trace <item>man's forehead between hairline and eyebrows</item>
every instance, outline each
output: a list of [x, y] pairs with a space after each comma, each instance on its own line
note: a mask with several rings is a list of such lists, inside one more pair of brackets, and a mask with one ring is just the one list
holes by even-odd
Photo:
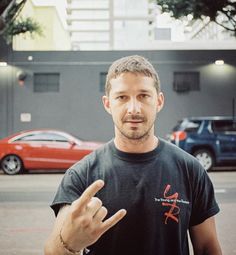
[[140, 73], [122, 73], [121, 75], [110, 80], [110, 92], [116, 93], [129, 90], [156, 90], [155, 81], [152, 77]]

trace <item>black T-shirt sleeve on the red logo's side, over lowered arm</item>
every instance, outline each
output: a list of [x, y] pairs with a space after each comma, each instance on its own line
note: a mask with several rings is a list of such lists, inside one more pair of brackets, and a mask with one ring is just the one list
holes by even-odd
[[194, 186], [190, 226], [198, 225], [220, 211], [213, 184], [205, 170], [202, 171], [200, 179]]

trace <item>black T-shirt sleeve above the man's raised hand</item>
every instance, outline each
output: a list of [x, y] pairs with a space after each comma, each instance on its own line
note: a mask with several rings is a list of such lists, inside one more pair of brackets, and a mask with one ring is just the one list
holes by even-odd
[[62, 205], [71, 204], [86, 189], [86, 169], [80, 163], [76, 164], [75, 167], [76, 169], [72, 167], [66, 171], [57, 189], [54, 200], [50, 205], [55, 215], [58, 214]]

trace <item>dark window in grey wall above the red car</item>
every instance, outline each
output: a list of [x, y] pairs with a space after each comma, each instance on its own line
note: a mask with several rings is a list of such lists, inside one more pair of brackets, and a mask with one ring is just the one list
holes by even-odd
[[35, 73], [34, 92], [59, 92], [59, 73]]

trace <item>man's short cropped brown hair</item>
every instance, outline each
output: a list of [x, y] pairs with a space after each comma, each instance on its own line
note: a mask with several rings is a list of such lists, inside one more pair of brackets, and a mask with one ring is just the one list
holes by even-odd
[[118, 77], [122, 73], [131, 72], [131, 73], [140, 73], [147, 77], [151, 77], [154, 80], [154, 86], [157, 90], [157, 93], [160, 92], [160, 80], [159, 76], [153, 67], [153, 65], [144, 57], [138, 55], [132, 55], [120, 58], [112, 63], [108, 70], [105, 84], [105, 93], [109, 95], [111, 84], [110, 80]]

